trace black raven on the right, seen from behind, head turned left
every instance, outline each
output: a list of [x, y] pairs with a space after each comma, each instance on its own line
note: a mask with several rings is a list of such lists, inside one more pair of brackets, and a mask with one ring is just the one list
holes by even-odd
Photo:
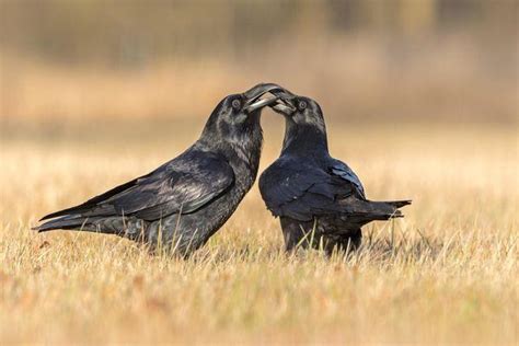
[[[360, 228], [373, 220], [402, 217], [411, 200], [371, 201], [351, 169], [328, 153], [324, 117], [319, 104], [288, 91], [274, 111], [286, 119], [281, 155], [260, 177], [267, 208], [280, 218], [287, 251], [298, 245], [331, 253], [356, 249]], [[349, 246], [349, 247], [348, 247]]]

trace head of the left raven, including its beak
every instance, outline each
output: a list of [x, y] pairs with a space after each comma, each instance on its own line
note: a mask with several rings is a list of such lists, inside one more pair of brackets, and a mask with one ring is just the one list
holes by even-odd
[[204, 135], [224, 141], [246, 140], [253, 130], [261, 130], [260, 116], [265, 106], [272, 105], [277, 96], [262, 97], [268, 92], [281, 90], [277, 84], [262, 83], [241, 94], [224, 97], [212, 111]]

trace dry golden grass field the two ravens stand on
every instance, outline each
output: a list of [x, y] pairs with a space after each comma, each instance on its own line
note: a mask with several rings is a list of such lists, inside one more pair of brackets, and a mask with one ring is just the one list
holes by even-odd
[[[282, 132], [269, 112], [264, 120], [262, 168]], [[347, 258], [284, 254], [257, 186], [187, 261], [116, 237], [30, 230], [176, 155], [201, 123], [183, 126], [157, 136], [128, 125], [109, 137], [4, 131], [1, 344], [518, 342], [515, 127], [328, 122], [333, 154], [370, 198], [414, 200], [405, 219], [366, 227]]]

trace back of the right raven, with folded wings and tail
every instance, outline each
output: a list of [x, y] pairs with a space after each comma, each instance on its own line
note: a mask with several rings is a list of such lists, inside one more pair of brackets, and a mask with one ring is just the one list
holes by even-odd
[[367, 200], [354, 171], [330, 155], [281, 155], [260, 177], [260, 191], [275, 217], [301, 222], [325, 218], [348, 228], [397, 217], [397, 208], [408, 204]]

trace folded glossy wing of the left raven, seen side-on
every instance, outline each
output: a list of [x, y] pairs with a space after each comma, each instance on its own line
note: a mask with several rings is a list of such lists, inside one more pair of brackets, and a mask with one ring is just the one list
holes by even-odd
[[135, 215], [145, 220], [158, 220], [171, 214], [197, 210], [227, 191], [233, 182], [234, 172], [224, 159], [208, 152], [188, 151], [148, 175], [42, 220], [74, 215]]

